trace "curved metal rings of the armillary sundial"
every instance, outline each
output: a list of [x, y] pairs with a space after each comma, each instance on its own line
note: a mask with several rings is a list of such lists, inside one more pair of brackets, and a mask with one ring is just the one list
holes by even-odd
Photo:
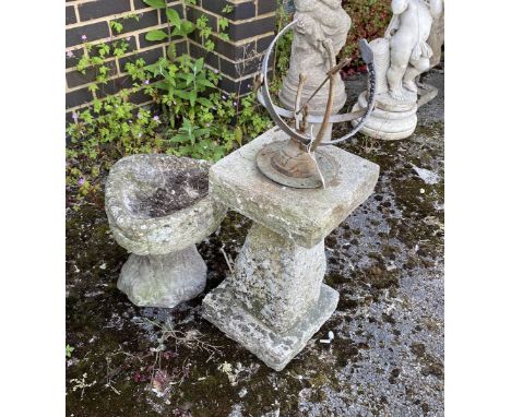
[[[304, 145], [309, 145], [312, 141], [313, 138], [309, 134], [302, 134], [297, 132], [296, 130], [292, 129], [287, 123], [281, 118], [280, 115], [283, 115], [284, 117], [294, 117], [294, 112], [283, 109], [282, 107], [277, 107], [273, 104], [272, 97], [270, 94], [270, 85], [266, 82], [268, 80], [268, 68], [269, 68], [269, 62], [270, 62], [270, 57], [272, 55], [273, 49], [275, 48], [276, 43], [278, 39], [286, 34], [298, 21], [295, 20], [290, 22], [288, 25], [286, 25], [272, 40], [270, 44], [266, 53], [264, 55], [264, 59], [262, 62], [261, 67], [261, 90], [258, 92], [258, 99], [259, 102], [266, 108], [268, 112], [272, 117], [273, 121], [289, 136], [296, 139]], [[329, 143], [320, 143], [319, 146], [325, 146], [325, 145], [331, 145], [335, 143], [340, 143], [343, 141], [346, 141], [347, 139], [354, 136], [366, 124], [366, 121], [369, 117], [369, 115], [372, 112], [372, 109], [375, 107], [375, 102], [376, 102], [376, 71], [375, 71], [375, 64], [373, 64], [373, 53], [372, 49], [370, 48], [369, 44], [367, 43], [366, 39], [361, 39], [358, 43], [358, 47], [360, 49], [360, 53], [363, 57], [364, 62], [367, 65], [368, 70], [368, 78], [369, 78], [369, 96], [368, 96], [368, 106], [365, 109], [364, 114], [361, 114], [360, 110], [354, 112], [354, 114], [345, 114], [345, 115], [333, 115], [331, 117], [332, 122], [341, 122], [341, 121], [348, 121], [348, 120], [354, 120], [354, 119], [359, 119], [359, 122], [353, 128], [352, 131], [346, 133], [344, 136], [332, 140]], [[352, 116], [353, 115], [353, 116]], [[323, 117], [324, 118], [324, 117]], [[321, 122], [323, 120], [319, 120]]]

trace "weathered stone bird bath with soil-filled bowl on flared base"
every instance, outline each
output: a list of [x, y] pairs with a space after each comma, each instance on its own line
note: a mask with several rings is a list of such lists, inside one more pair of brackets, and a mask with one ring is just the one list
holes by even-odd
[[209, 168], [204, 160], [158, 154], [129, 156], [111, 168], [108, 222], [131, 252], [117, 286], [136, 306], [171, 308], [204, 289], [206, 265], [195, 243], [226, 213], [209, 195]]

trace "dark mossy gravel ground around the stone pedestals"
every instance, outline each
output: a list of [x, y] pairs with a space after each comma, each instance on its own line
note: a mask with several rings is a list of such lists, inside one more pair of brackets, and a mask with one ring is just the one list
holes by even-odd
[[[443, 73], [408, 140], [342, 147], [381, 166], [376, 192], [325, 240], [334, 315], [282, 372], [201, 319], [201, 300], [136, 308], [116, 288], [128, 253], [103, 207], [67, 219], [68, 416], [443, 416]], [[346, 81], [353, 104], [365, 85]], [[335, 134], [335, 133], [334, 133]], [[250, 222], [199, 246], [206, 293]], [[330, 344], [320, 343], [334, 333]]]

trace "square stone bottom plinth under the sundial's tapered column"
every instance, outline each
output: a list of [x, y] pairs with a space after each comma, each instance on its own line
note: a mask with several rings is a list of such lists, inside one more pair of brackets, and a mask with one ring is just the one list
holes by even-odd
[[202, 302], [202, 315], [228, 337], [254, 354], [276, 371], [300, 353], [312, 335], [335, 311], [338, 293], [322, 284], [318, 301], [302, 320], [284, 333], [276, 333], [251, 314], [234, 296], [235, 279], [226, 279]]

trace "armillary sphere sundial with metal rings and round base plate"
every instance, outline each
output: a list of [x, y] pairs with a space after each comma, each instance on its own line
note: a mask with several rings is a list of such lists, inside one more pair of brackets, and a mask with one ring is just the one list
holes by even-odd
[[[301, 91], [305, 83], [307, 83], [307, 74], [300, 74], [294, 111], [275, 106], [270, 95], [268, 82], [270, 57], [278, 39], [296, 23], [298, 23], [298, 20], [289, 23], [275, 36], [264, 56], [261, 74], [259, 75], [259, 80], [257, 80], [259, 102], [266, 108], [276, 126], [284, 131], [289, 139], [285, 142], [273, 142], [264, 146], [257, 156], [257, 165], [264, 176], [283, 186], [301, 189], [325, 188], [336, 178], [337, 166], [328, 153], [318, 147], [343, 142], [355, 135], [366, 123], [375, 106], [376, 71], [373, 67], [373, 56], [367, 40], [361, 39], [358, 47], [368, 69], [369, 81], [367, 108], [344, 115], [331, 114], [336, 82], [335, 74], [346, 62], [332, 65], [330, 71], [325, 74], [324, 81], [305, 104], [301, 104]], [[325, 53], [329, 53], [331, 48], [324, 45], [324, 50]], [[329, 58], [330, 61], [335, 62], [335, 57]], [[330, 85], [324, 115], [322, 117], [309, 117], [307, 105], [326, 82], [329, 82]], [[289, 127], [283, 120], [283, 117], [286, 119], [294, 119], [295, 127]], [[328, 143], [322, 142], [329, 123], [347, 122], [356, 119], [358, 119], [359, 122], [344, 136], [334, 139]], [[316, 136], [312, 134], [312, 129], [308, 129], [309, 122], [321, 123], [320, 130]]]

